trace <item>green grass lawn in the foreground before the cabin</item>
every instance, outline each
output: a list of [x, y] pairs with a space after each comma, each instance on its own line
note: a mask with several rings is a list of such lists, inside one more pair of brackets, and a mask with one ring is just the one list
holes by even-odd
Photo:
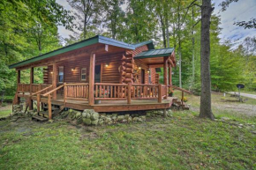
[[[213, 95], [216, 117], [256, 126], [255, 115], [232, 115], [221, 98]], [[199, 97], [188, 100], [191, 111], [139, 123], [0, 121], [0, 169], [256, 169], [256, 129], [200, 119]]]

